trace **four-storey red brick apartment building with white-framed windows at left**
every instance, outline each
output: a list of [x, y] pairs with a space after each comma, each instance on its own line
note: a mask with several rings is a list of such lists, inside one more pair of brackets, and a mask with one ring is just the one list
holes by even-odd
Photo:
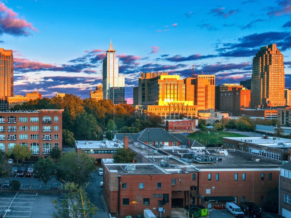
[[63, 111], [0, 111], [0, 149], [7, 153], [16, 144], [28, 146], [32, 161], [48, 157], [54, 147], [62, 150]]

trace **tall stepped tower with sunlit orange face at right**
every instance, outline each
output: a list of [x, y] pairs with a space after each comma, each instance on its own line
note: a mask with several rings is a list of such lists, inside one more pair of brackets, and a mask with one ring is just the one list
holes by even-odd
[[253, 58], [251, 106], [284, 106], [283, 54], [276, 44], [263, 46]]

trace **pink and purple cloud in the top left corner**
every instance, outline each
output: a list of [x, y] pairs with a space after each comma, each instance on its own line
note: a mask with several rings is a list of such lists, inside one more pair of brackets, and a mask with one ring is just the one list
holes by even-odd
[[18, 18], [18, 13], [0, 3], [0, 34], [6, 33], [13, 36], [31, 35], [29, 30], [37, 32], [32, 23], [23, 18]]

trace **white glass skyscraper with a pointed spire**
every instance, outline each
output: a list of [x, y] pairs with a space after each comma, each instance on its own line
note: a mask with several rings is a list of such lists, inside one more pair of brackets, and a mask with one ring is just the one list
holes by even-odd
[[110, 99], [114, 104], [126, 104], [125, 78], [119, 75], [119, 60], [110, 41], [106, 58], [103, 60], [103, 99]]

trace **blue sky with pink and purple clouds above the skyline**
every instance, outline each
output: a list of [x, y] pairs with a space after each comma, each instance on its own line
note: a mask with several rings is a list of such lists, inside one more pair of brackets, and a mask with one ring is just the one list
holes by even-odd
[[89, 97], [102, 84], [110, 39], [125, 75], [125, 98], [141, 72], [181, 78], [215, 74], [216, 84], [251, 78], [260, 47], [276, 43], [291, 88], [291, 0], [0, 2], [0, 47], [12, 49], [14, 94]]

